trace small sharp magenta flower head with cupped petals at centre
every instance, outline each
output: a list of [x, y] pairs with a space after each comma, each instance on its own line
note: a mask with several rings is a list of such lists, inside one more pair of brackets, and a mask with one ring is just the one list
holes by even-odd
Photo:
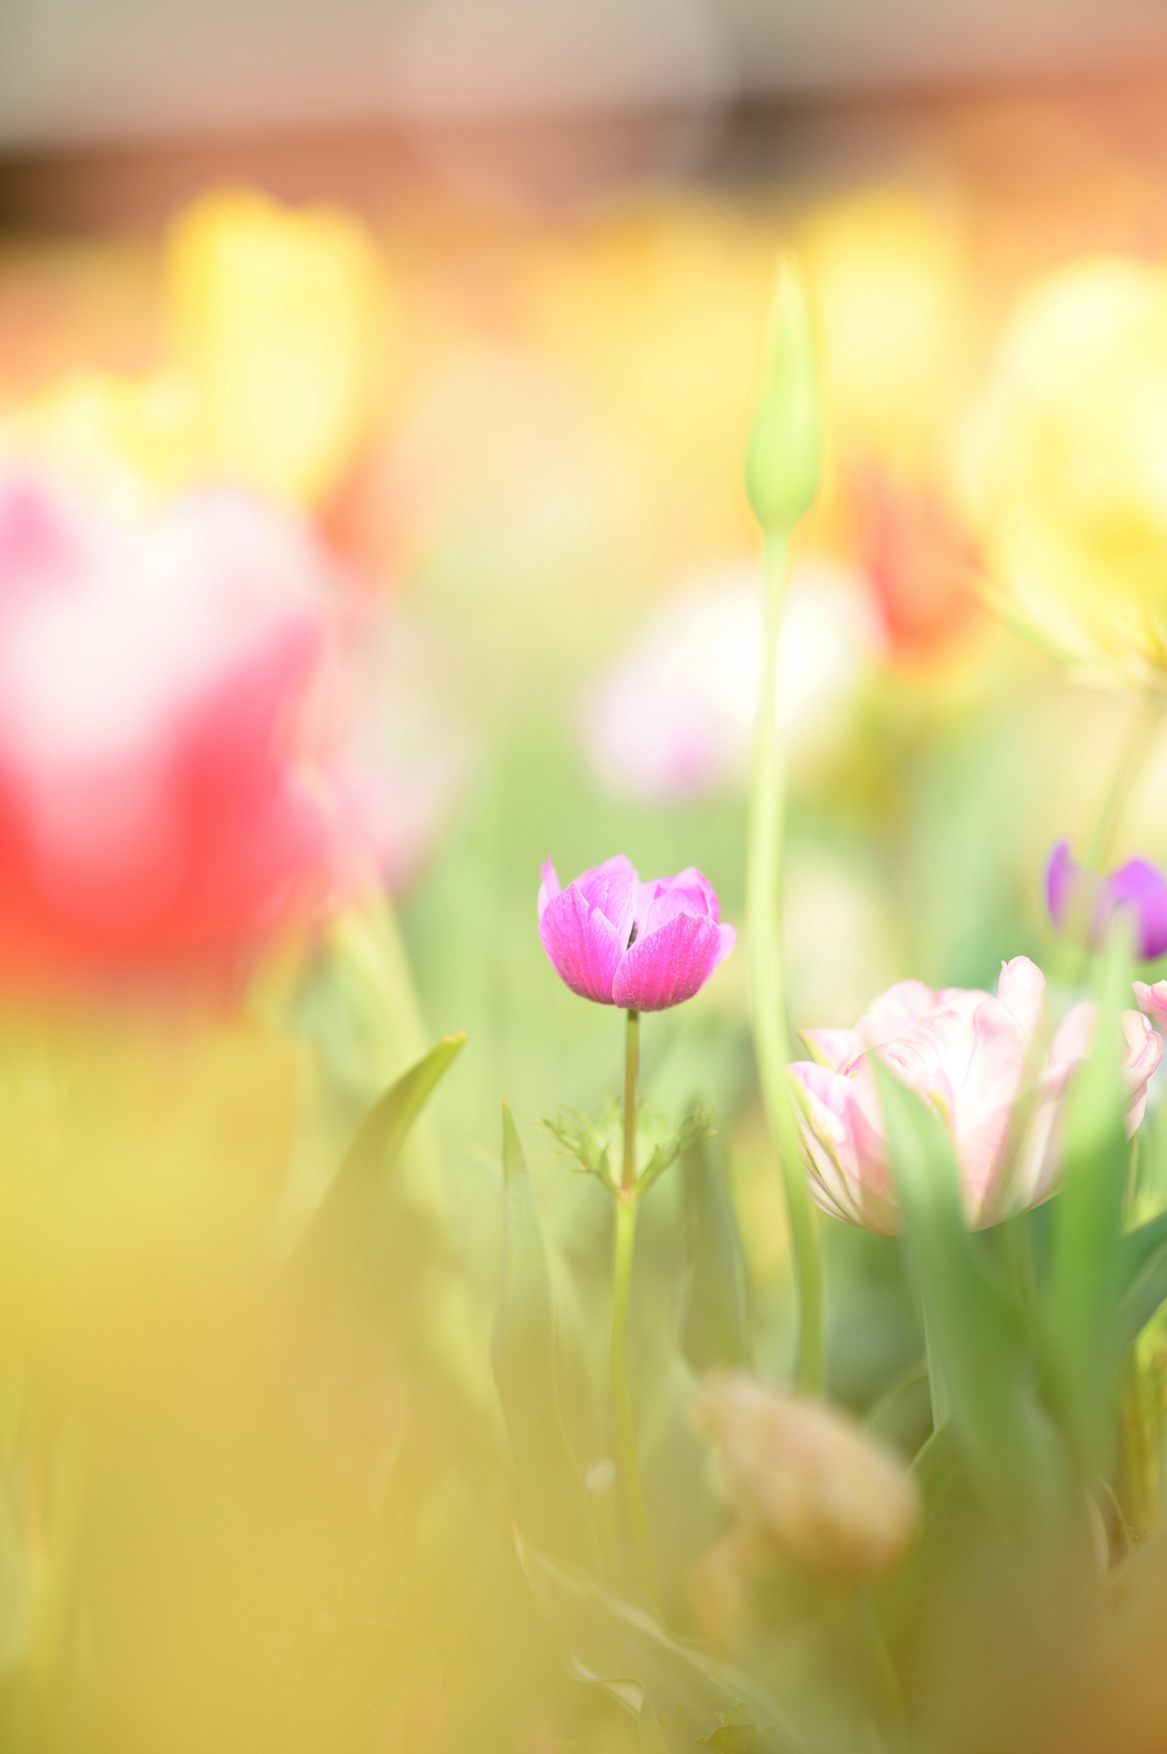
[[718, 919], [712, 884], [691, 865], [641, 882], [623, 852], [560, 888], [542, 866], [539, 937], [581, 998], [625, 1010], [669, 1010], [693, 998], [737, 933]]

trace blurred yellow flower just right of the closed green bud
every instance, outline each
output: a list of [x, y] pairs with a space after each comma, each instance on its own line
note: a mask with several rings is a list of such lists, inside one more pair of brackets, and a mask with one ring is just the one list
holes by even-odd
[[837, 451], [928, 474], [972, 333], [960, 226], [902, 186], [876, 186], [818, 207], [800, 258], [827, 337]]

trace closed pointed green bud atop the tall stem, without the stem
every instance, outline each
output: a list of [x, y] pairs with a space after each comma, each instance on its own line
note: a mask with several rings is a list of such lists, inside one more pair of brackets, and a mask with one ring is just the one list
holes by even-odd
[[823, 396], [811, 295], [793, 256], [777, 263], [762, 400], [746, 446], [746, 498], [767, 535], [790, 535], [823, 472]]

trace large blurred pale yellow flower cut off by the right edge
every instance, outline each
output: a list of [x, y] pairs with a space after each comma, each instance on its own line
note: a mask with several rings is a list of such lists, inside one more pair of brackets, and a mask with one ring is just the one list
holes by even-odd
[[1167, 270], [1093, 260], [1023, 298], [962, 488], [1006, 619], [1088, 681], [1167, 689]]

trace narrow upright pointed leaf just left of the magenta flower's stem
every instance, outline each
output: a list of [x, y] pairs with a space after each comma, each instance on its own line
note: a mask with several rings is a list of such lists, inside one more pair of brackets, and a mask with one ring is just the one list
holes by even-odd
[[511, 1438], [523, 1524], [549, 1552], [595, 1566], [598, 1549], [588, 1498], [560, 1415], [548, 1251], [523, 1145], [505, 1103], [502, 1168], [505, 1244], [491, 1363]]

